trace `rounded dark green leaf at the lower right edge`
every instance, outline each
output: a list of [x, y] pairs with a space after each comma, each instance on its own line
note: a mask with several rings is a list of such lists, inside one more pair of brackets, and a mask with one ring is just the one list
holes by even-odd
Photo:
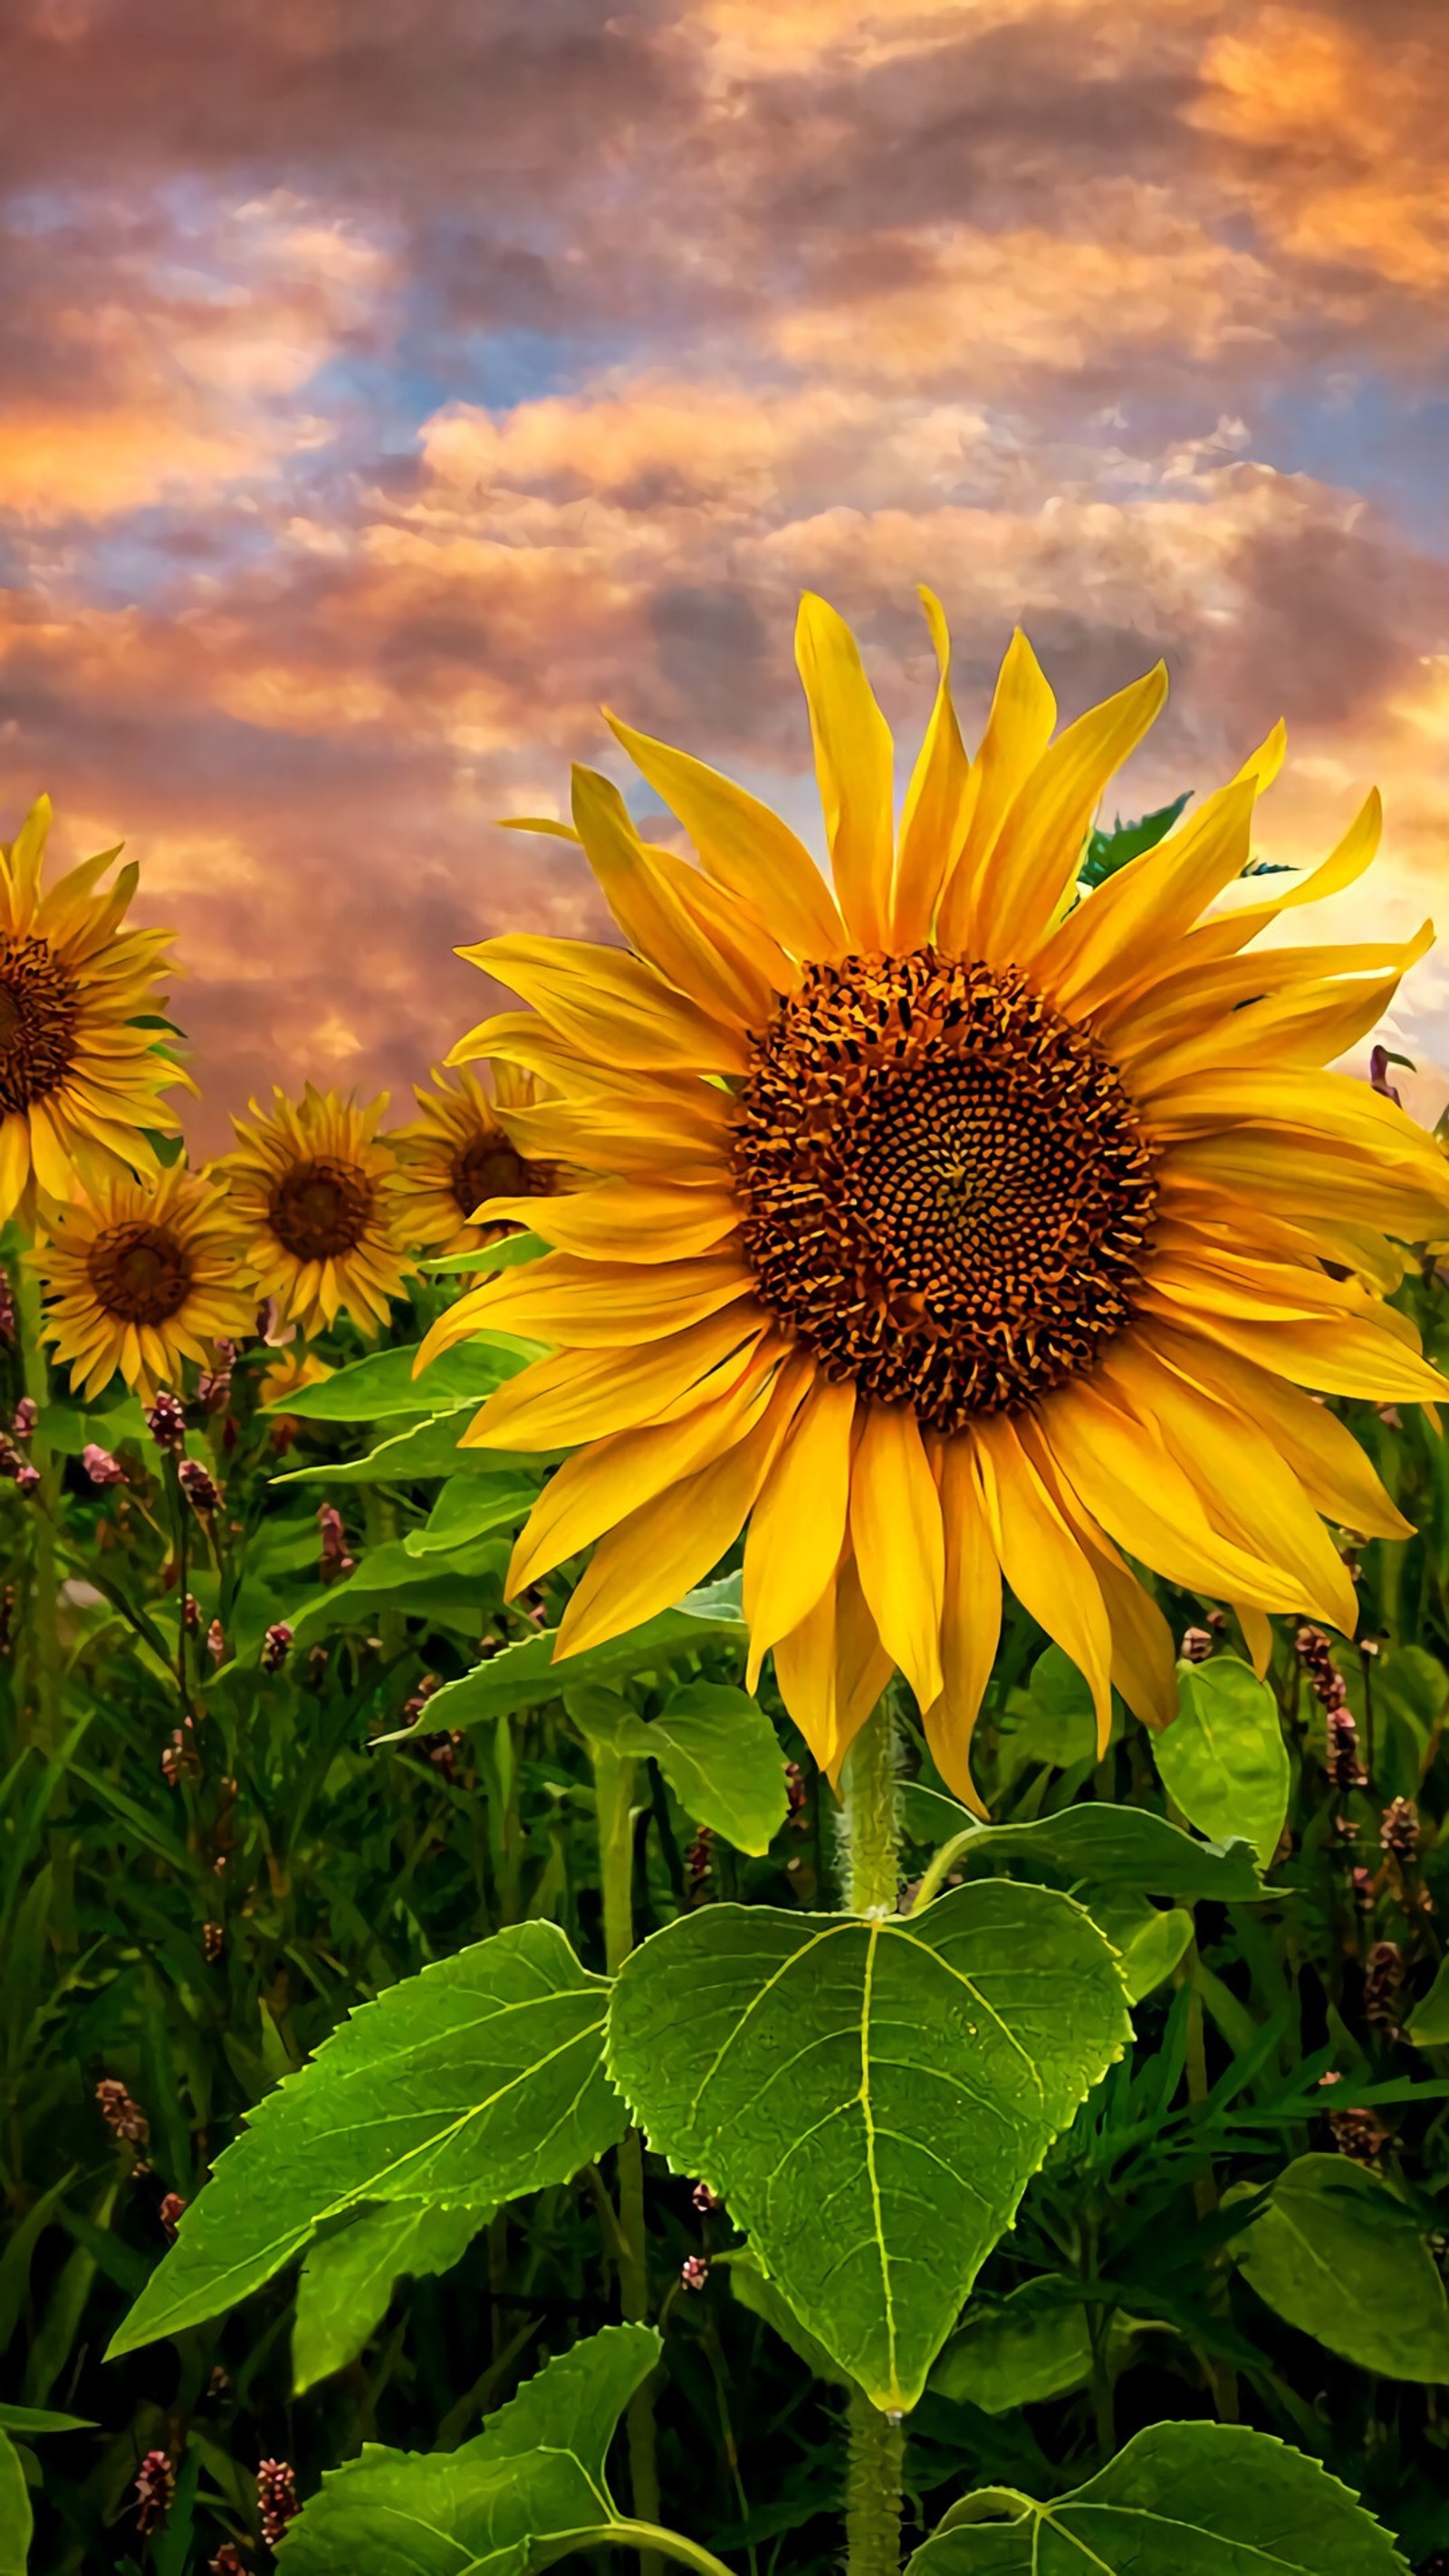
[[1449, 2300], [1423, 2223], [1346, 2156], [1300, 2156], [1233, 2244], [1289, 2326], [1385, 2380], [1449, 2380]]

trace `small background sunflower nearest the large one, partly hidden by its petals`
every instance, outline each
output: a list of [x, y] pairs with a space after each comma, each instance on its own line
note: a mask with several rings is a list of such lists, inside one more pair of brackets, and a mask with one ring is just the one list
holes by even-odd
[[507, 1231], [502, 1224], [474, 1224], [484, 1198], [551, 1198], [558, 1188], [558, 1164], [525, 1154], [510, 1133], [517, 1118], [520, 1136], [528, 1136], [538, 1082], [499, 1064], [492, 1097], [468, 1072], [453, 1087], [435, 1066], [432, 1084], [425, 1092], [414, 1082], [422, 1118], [394, 1133], [399, 1234], [425, 1252], [481, 1252]]

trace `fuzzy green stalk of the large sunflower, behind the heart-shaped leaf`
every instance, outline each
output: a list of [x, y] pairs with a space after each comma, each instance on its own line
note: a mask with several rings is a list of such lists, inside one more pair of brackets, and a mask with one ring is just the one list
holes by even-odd
[[[844, 1911], [896, 1914], [901, 1893], [901, 1814], [896, 1726], [875, 1710], [849, 1747], [844, 1767]], [[844, 2473], [847, 2576], [901, 2576], [901, 2416], [880, 2414], [862, 2388], [849, 2393]]]

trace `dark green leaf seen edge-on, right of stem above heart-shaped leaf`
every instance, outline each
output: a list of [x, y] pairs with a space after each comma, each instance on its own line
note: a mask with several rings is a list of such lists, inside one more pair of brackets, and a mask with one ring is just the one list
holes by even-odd
[[[906, 1824], [916, 1816], [921, 1790], [906, 1788]], [[927, 1790], [934, 1806], [947, 1806]], [[957, 1808], [957, 1824], [932, 1834], [947, 1839], [975, 1824]], [[914, 1826], [911, 1826], [914, 1829]], [[1040, 1816], [1035, 1824], [981, 1824], [952, 1862], [965, 1878], [988, 1870], [1011, 1870], [1019, 1878], [1060, 1880], [1076, 1886], [1145, 1888], [1153, 1896], [1215, 1896], [1223, 1904], [1266, 1896], [1253, 1852], [1246, 1842], [1194, 1842], [1179, 1824], [1153, 1816], [1140, 1806], [1109, 1806], [1094, 1798], [1089, 1806], [1063, 1806], [1058, 1816]]]

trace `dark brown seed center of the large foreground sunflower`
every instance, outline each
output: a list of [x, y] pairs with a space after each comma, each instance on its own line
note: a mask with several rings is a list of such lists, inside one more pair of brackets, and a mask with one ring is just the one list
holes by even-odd
[[955, 1432], [1130, 1321], [1153, 1157], [1112, 1066], [1014, 969], [811, 966], [739, 1108], [759, 1301], [826, 1376]]

